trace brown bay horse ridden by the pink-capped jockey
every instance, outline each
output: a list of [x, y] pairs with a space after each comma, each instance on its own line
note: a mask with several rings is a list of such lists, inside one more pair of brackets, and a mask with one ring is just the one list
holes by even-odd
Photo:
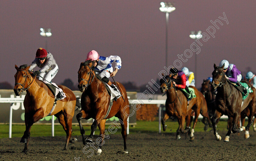
[[[96, 143], [99, 145], [97, 153], [100, 154], [102, 152], [102, 145], [105, 142], [104, 136], [106, 119], [115, 116], [118, 117], [119, 121], [121, 122], [124, 152], [128, 153], [126, 148], [126, 128], [130, 109], [124, 86], [121, 83], [116, 82], [124, 99], [120, 97], [114, 101], [111, 110], [107, 115], [110, 103], [110, 95], [108, 94], [104, 83], [97, 76], [95, 76], [94, 66], [92, 66], [91, 60], [82, 62], [80, 64], [78, 71], [78, 83], [78, 88], [81, 92], [83, 92], [83, 94], [81, 96], [82, 109], [80, 113], [76, 115], [76, 118], [80, 126], [81, 135], [83, 137], [83, 144], [86, 145], [88, 142], [90, 143], [93, 141], [93, 133], [98, 126], [100, 129], [101, 142], [97, 143], [96, 140]], [[82, 118], [87, 120], [90, 118], [94, 119], [94, 122], [91, 125], [91, 134], [88, 138], [86, 138], [84, 135], [85, 131], [81, 122]], [[110, 131], [110, 133], [112, 132]]]

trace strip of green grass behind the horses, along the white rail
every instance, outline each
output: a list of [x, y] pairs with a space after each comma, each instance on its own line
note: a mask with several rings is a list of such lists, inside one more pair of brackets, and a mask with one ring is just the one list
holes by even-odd
[[[130, 125], [130, 127], [129, 127], [130, 134], [149, 133], [149, 132], [158, 133], [158, 121], [137, 121], [136, 123], [137, 124], [133, 127]], [[178, 128], [178, 122], [168, 120], [165, 122], [165, 124], [167, 125], [167, 129], [166, 129], [166, 131], [163, 131], [162, 126], [161, 126], [162, 133], [176, 132], [176, 130]], [[191, 126], [193, 126], [193, 123]], [[85, 130], [85, 135], [90, 135], [91, 126], [84, 125], [83, 127]], [[108, 127], [109, 127], [109, 125], [106, 125], [105, 129], [107, 129]], [[219, 131], [227, 131], [226, 127], [227, 127], [227, 121], [219, 121], [219, 123], [217, 125], [217, 129]], [[118, 130], [116, 131], [115, 134], [120, 134], [121, 127], [118, 128], [116, 126], [116, 128]], [[72, 129], [73, 129], [73, 133], [72, 133], [73, 136], [81, 135], [78, 125], [73, 125]], [[212, 128], [208, 128], [208, 131], [210, 131], [210, 129], [212, 129]], [[55, 136], [65, 136], [66, 135], [66, 133], [63, 130], [61, 125], [55, 125], [54, 130], [55, 130], [55, 133], [54, 133]], [[25, 125], [12, 125], [12, 138], [14, 138], [14, 137], [21, 138], [23, 136], [24, 131], [25, 131]], [[195, 128], [195, 132], [199, 132], [199, 131], [204, 131], [204, 124], [201, 121], [197, 122], [197, 125]], [[52, 125], [34, 124], [31, 128], [30, 134], [31, 134], [30, 137], [52, 136]], [[95, 134], [99, 135], [98, 128], [95, 131]], [[9, 124], [0, 125], [0, 138], [8, 138], [8, 137], [9, 137]]]

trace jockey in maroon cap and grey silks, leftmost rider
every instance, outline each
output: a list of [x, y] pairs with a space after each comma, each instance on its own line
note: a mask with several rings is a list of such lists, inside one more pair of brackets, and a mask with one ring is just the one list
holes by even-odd
[[[58, 72], [59, 68], [56, 64], [55, 59], [53, 58], [51, 53], [47, 53], [47, 51], [43, 48], [37, 49], [36, 58], [30, 65], [29, 70], [31, 71], [36, 66], [41, 68], [33, 73], [33, 76], [40, 75], [41, 77], [37, 77], [39, 80], [45, 79], [48, 82], [51, 82], [52, 79], [55, 77], [56, 73]], [[64, 97], [64, 93], [62, 90], [59, 90], [57, 94], [57, 100], [61, 100]]]

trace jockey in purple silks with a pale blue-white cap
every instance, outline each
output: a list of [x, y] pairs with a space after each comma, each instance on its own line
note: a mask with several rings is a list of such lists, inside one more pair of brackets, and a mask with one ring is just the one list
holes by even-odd
[[[236, 65], [229, 64], [227, 60], [222, 60], [219, 63], [219, 66], [222, 67], [224, 65], [223, 71], [225, 72], [225, 77], [230, 82], [236, 83], [237, 86], [242, 86], [240, 81], [242, 79], [241, 72], [236, 68]], [[243, 87], [243, 86], [242, 86]], [[243, 92], [247, 95], [247, 89], [243, 87]]]

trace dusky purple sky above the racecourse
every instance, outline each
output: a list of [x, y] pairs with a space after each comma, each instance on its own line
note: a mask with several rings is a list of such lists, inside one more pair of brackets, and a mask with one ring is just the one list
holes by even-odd
[[[72, 79], [77, 84], [80, 62], [91, 50], [101, 56], [119, 55], [122, 68], [115, 76], [119, 82], [132, 81], [143, 85], [160, 78], [165, 66], [165, 13], [158, 0], [144, 1], [1, 1], [0, 82], [14, 86], [14, 65], [30, 65], [39, 47], [45, 48], [40, 28], [51, 28], [48, 52], [59, 66], [52, 80], [59, 84]], [[202, 43], [199, 54], [193, 52], [187, 62], [194, 71], [197, 56], [197, 87], [211, 76], [213, 64], [222, 59], [233, 63], [241, 72], [255, 70], [255, 1], [176, 1], [176, 10], [169, 14], [168, 66], [194, 42], [191, 30], [206, 32], [225, 12], [229, 24], [216, 29]], [[184, 57], [185, 58], [185, 57]], [[181, 68], [179, 68], [181, 69]]]

